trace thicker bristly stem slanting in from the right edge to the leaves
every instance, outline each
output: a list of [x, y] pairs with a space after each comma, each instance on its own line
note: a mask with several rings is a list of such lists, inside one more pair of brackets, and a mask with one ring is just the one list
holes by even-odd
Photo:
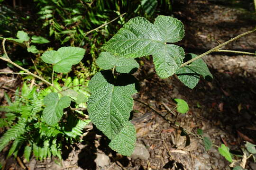
[[236, 37], [230, 39], [229, 41], [223, 42], [223, 43], [219, 44], [218, 46], [214, 47], [213, 49], [211, 49], [211, 50], [209, 50], [209, 51], [206, 51], [205, 53], [202, 53], [201, 55], [199, 55], [199, 56], [197, 56], [197, 57], [195, 57], [195, 58], [193, 58], [193, 59], [191, 59], [191, 60], [189, 60], [189, 61], [183, 63], [183, 64], [181, 65], [181, 67], [184, 67], [184, 66], [186, 66], [186, 65], [188, 65], [188, 64], [190, 64], [190, 63], [192, 63], [194, 60], [200, 59], [200, 58], [202, 58], [203, 56], [205, 56], [205, 55], [207, 55], [207, 54], [210, 54], [211, 52], [218, 51], [220, 47], [222, 47], [222, 46], [224, 46], [224, 45], [227, 45], [228, 43], [233, 42], [233, 41], [237, 40], [238, 38], [240, 38], [240, 37], [242, 37], [242, 36], [245, 36], [245, 35], [247, 35], [247, 34], [251, 34], [251, 33], [255, 32], [255, 31], [256, 31], [256, 29], [254, 29], [254, 30], [252, 30], [252, 31], [247, 31], [247, 32], [245, 32], [245, 33], [243, 33], [243, 34], [240, 34], [240, 35], [238, 35], [238, 36], [236, 36]]

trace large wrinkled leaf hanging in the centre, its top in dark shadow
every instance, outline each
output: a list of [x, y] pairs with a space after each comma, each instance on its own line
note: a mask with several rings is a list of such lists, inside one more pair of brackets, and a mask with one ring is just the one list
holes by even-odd
[[135, 84], [117, 86], [111, 72], [98, 72], [88, 85], [91, 96], [87, 102], [91, 122], [106, 136], [113, 139], [128, 121], [133, 108]]

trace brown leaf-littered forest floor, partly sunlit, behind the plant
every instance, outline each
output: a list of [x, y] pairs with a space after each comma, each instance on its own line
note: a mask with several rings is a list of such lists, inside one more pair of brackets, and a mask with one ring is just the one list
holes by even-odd
[[[186, 30], [183, 41], [177, 45], [186, 53], [201, 54], [256, 26], [251, 13], [222, 2], [180, 0], [174, 4], [172, 14], [183, 22]], [[223, 49], [255, 52], [256, 34], [242, 37]], [[139, 93], [133, 96], [137, 155], [124, 157], [114, 153], [108, 147], [108, 139], [89, 125], [84, 142], [67, 147], [62, 166], [50, 159], [33, 159], [27, 167], [30, 170], [230, 170], [229, 162], [218, 149], [213, 147], [206, 152], [199, 138], [190, 135], [190, 144], [185, 147], [186, 137], [180, 136], [181, 131], [169, 122], [195, 134], [201, 128], [214, 144], [227, 144], [231, 150], [239, 151], [245, 141], [256, 143], [256, 58], [212, 53], [203, 59], [214, 79], [211, 82], [201, 79], [192, 90], [175, 76], [160, 79], [155, 75], [141, 82]], [[152, 59], [140, 62], [144, 65], [135, 76], [154, 71]], [[187, 114], [178, 115], [172, 110], [175, 98], [188, 102]], [[256, 170], [256, 163], [248, 159], [246, 168]]]

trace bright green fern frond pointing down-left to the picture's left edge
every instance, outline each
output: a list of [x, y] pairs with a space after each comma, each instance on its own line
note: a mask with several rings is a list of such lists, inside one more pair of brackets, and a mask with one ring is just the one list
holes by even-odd
[[14, 140], [24, 134], [26, 132], [25, 127], [26, 123], [23, 120], [19, 120], [13, 127], [9, 128], [0, 138], [0, 151], [2, 151], [11, 140]]

